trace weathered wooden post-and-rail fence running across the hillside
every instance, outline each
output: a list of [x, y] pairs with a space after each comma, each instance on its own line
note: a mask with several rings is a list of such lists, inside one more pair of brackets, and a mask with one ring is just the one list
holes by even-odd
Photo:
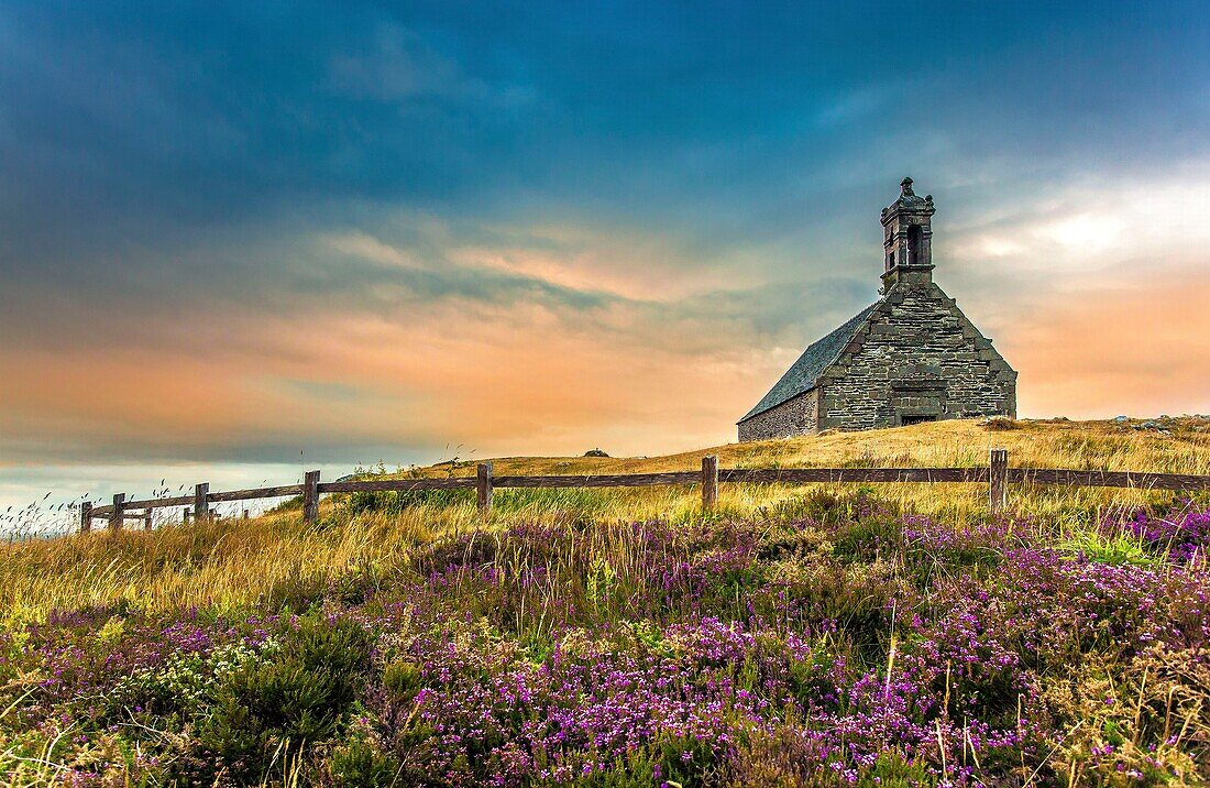
[[[719, 484], [817, 484], [817, 483], [967, 483], [986, 484], [992, 512], [1008, 505], [1009, 484], [1060, 484], [1065, 487], [1119, 487], [1147, 490], [1210, 490], [1210, 476], [1188, 473], [1147, 473], [1136, 471], [1071, 471], [1061, 468], [1010, 468], [1008, 451], [992, 449], [985, 467], [963, 468], [719, 468], [719, 458], [702, 458], [701, 471], [663, 473], [613, 473], [599, 476], [494, 476], [491, 464], [483, 462], [476, 476], [446, 478], [374, 479], [321, 482], [319, 471], [307, 471], [302, 484], [263, 487], [248, 490], [211, 493], [209, 484], [194, 488], [192, 495], [151, 497], [127, 501], [119, 493], [109, 506], [80, 507], [80, 530], [92, 529], [93, 519], [106, 519], [109, 528], [120, 529], [126, 519], [140, 519], [151, 528], [151, 511], [185, 507], [184, 519], [213, 518], [211, 504], [247, 501], [264, 497], [302, 496], [302, 517], [315, 522], [319, 516], [319, 496], [332, 493], [409, 491], [474, 489], [480, 512], [491, 508], [496, 488], [589, 488], [589, 487], [669, 487], [699, 484], [702, 506], [713, 508], [719, 500]], [[142, 511], [137, 511], [142, 510]], [[243, 510], [248, 517], [248, 510]]]

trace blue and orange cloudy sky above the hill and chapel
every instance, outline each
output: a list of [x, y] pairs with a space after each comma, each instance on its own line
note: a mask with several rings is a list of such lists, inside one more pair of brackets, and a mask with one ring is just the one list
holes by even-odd
[[[1022, 416], [1210, 412], [1205, 2], [0, 4], [0, 511], [734, 441], [878, 211]], [[143, 479], [143, 481], [140, 481]]]

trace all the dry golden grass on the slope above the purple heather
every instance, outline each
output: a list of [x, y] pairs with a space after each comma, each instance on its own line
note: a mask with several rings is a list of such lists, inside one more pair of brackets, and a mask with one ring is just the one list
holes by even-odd
[[[989, 431], [974, 421], [945, 421], [897, 430], [835, 433], [750, 444], [728, 444], [662, 458], [501, 458], [497, 474], [636, 473], [701, 467], [718, 454], [721, 467], [975, 466], [987, 450], [1009, 450], [1013, 466], [1104, 468], [1210, 474], [1205, 421], [1185, 420], [1172, 435], [1110, 422], [1019, 422]], [[474, 462], [421, 470], [424, 474], [473, 473]], [[817, 485], [818, 487], [818, 485]], [[837, 488], [840, 490], [842, 488]], [[852, 490], [852, 485], [843, 488]], [[802, 485], [724, 484], [720, 511], [762, 517], [789, 507]], [[979, 484], [885, 484], [874, 493], [891, 505], [961, 524], [986, 517]], [[1010, 488], [1010, 506], [1051, 533], [1078, 530], [1114, 508], [1170, 500], [1140, 490]], [[409, 551], [434, 536], [483, 525], [472, 502], [415, 507], [398, 516], [344, 512], [324, 501], [318, 527], [298, 510], [253, 520], [168, 527], [154, 533], [93, 533], [0, 547], [0, 623], [45, 619], [53, 609], [111, 605], [125, 600], [151, 610], [204, 605], [237, 610], [281, 604], [350, 575], [385, 577]], [[699, 516], [697, 488], [497, 490], [486, 525], [514, 522], [666, 518]]]

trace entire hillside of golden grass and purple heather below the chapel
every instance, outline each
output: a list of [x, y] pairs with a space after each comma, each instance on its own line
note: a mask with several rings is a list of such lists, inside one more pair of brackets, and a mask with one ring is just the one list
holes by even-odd
[[[1210, 473], [1208, 421], [973, 421], [497, 474]], [[404, 471], [471, 474], [474, 461]], [[333, 496], [2, 547], [0, 786], [1202, 784], [1210, 499], [976, 484]]]

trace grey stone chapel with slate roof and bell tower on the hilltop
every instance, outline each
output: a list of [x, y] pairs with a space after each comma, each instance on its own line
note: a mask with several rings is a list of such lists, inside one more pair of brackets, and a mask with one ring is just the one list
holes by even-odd
[[882, 299], [811, 345], [739, 420], [741, 441], [1016, 416], [1016, 372], [933, 282], [932, 196], [901, 186], [882, 212]]

